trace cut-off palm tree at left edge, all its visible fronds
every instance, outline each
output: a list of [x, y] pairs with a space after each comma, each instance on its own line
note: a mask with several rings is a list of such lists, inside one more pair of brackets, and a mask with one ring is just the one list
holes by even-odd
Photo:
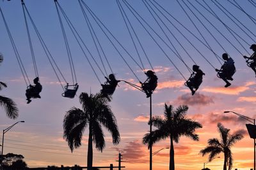
[[[0, 64], [1, 62], [3, 62], [3, 55], [0, 53]], [[3, 90], [3, 88], [5, 87], [7, 87], [6, 83], [0, 81], [0, 91]], [[19, 116], [19, 110], [12, 99], [0, 96], [0, 106], [4, 108], [7, 117], [15, 119]]]

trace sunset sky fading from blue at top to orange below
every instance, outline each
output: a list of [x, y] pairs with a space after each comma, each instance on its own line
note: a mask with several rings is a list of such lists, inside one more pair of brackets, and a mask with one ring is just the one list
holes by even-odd
[[[61, 73], [65, 75], [65, 79], [68, 82], [72, 83], [65, 41], [61, 32], [60, 21], [58, 20], [54, 1], [27, 0], [24, 2], [49, 52], [51, 52], [56, 64], [60, 67]], [[20, 120], [25, 121], [24, 123], [15, 125], [15, 127], [4, 135], [4, 153], [12, 152], [24, 155], [24, 160], [29, 167], [45, 167], [48, 165], [72, 166], [74, 164], [86, 166], [88, 129], [84, 131], [82, 146], [71, 153], [67, 142], [63, 139], [63, 118], [65, 113], [73, 106], [81, 108], [78, 99], [81, 92], [92, 94], [99, 92], [101, 89], [100, 83], [104, 83], [104, 76], [110, 74], [111, 69], [113, 73], [115, 73], [116, 79], [139, 85], [139, 81], [146, 80], [143, 69], [152, 69], [151, 64], [158, 77], [158, 86], [152, 95], [152, 115], [163, 115], [164, 103], [172, 104], [175, 108], [180, 104], [188, 104], [189, 110], [187, 116], [203, 125], [202, 129], [196, 130], [196, 134], [198, 134], [200, 138], [199, 141], [182, 137], [179, 143], [175, 143], [175, 168], [178, 170], [203, 168], [204, 162], [207, 162], [208, 155], [202, 157], [199, 152], [207, 146], [208, 139], [220, 138], [217, 131], [218, 122], [221, 122], [221, 124], [230, 129], [231, 133], [240, 132], [244, 136], [241, 141], [232, 146], [234, 168], [241, 170], [252, 168], [253, 139], [248, 135], [245, 126], [245, 124], [250, 122], [246, 122], [246, 120], [232, 113], [223, 113], [223, 111], [235, 111], [247, 117], [255, 118], [255, 74], [250, 67], [246, 66], [246, 62], [243, 58], [243, 55], [249, 56], [252, 54], [250, 45], [255, 43], [254, 40], [256, 38], [253, 34], [253, 30], [255, 30], [256, 27], [254, 19], [256, 16], [254, 13], [255, 6], [250, 3], [252, 1], [243, 1], [243, 3], [240, 1], [230, 2], [237, 2], [246, 13], [254, 18], [248, 17], [248, 15], [236, 8], [236, 6], [229, 1], [215, 1], [220, 3], [225, 8], [226, 12], [229, 12], [235, 17], [231, 18], [236, 23], [239, 23], [238, 25], [242, 27], [246, 33], [241, 31], [241, 29], [239, 29], [220, 8], [212, 3], [212, 1], [207, 1], [207, 5], [216, 13], [220, 20], [213, 17], [209, 11], [205, 10], [197, 3], [200, 2], [205, 6], [203, 0], [156, 1], [176, 19], [176, 21], [173, 20], [163, 9], [160, 11], [164, 13], [166, 18], [161, 15], [160, 11], [155, 10], [164, 23], [160, 22], [157, 18], [161, 25], [161, 27], [159, 27], [143, 1], [129, 0], [128, 2], [131, 4], [132, 8], [134, 8], [134, 10], [140, 14], [140, 17], [150, 26], [148, 27], [143, 20], [140, 20], [146, 29], [144, 29], [136, 17], [132, 15], [123, 1], [120, 2], [131, 22], [132, 28], [136, 32], [136, 36], [140, 39], [140, 43], [145, 53], [147, 53], [148, 59], [144, 55], [136, 36], [132, 33], [132, 37], [140, 53], [140, 62], [140, 58], [138, 57], [136, 48], [134, 48], [129, 31], [125, 26], [124, 18], [122, 18], [116, 1], [89, 0], [85, 3], [93, 13], [97, 15], [101, 22], [104, 23], [111, 34], [115, 36], [120, 45], [124, 46], [125, 50], [136, 61], [134, 62], [125, 50], [111, 38], [116, 49], [120, 52], [120, 55], [90, 16], [90, 13], [86, 11], [92, 23], [93, 30], [97, 38], [99, 38], [100, 45], [111, 66], [108, 67], [106, 60], [104, 60], [104, 66], [102, 66], [100, 62], [97, 48], [95, 48], [90, 29], [88, 29], [78, 1], [58, 1], [76, 28], [76, 31], [79, 33], [79, 36], [83, 39], [84, 44], [86, 44], [90, 53], [92, 53], [93, 59], [95, 59], [96, 63], [99, 65], [98, 67], [95, 64], [92, 57], [90, 57], [90, 53], [85, 50], [83, 46], [84, 53], [86, 53], [88, 60], [92, 64], [97, 74], [96, 76], [83, 50], [81, 50], [79, 43], [77, 43], [72, 31], [70, 31], [67, 22], [62, 18], [76, 69], [77, 83], [79, 84], [77, 96], [74, 97], [74, 99], [61, 96], [63, 89], [61, 88], [60, 82], [54, 74], [51, 64], [40, 45], [40, 41], [38, 41], [36, 37], [31, 23], [28, 22], [31, 41], [33, 42], [33, 49], [35, 51], [38, 74], [43, 90], [40, 93], [41, 99], [33, 99], [30, 104], [26, 104], [25, 91], [27, 85], [20, 71], [17, 59], [15, 58], [15, 53], [13, 52], [10, 39], [4, 27], [3, 18], [0, 19], [0, 52], [4, 55], [4, 62], [0, 66], [1, 81], [8, 85], [8, 88], [1, 90], [1, 95], [12, 98], [19, 108], [19, 118], [17, 118], [17, 120], [7, 118], [4, 110], [1, 109], [0, 129], [6, 129], [8, 126]], [[188, 13], [189, 17], [191, 17], [191, 20], [200, 32], [196, 30], [195, 25], [189, 20], [178, 2]], [[193, 8], [191, 4], [193, 4], [195, 8]], [[3, 10], [15, 45], [20, 53], [24, 68], [28, 73], [29, 81], [33, 82], [35, 73], [29, 50], [22, 5], [19, 1], [12, 0], [1, 1], [0, 7]], [[196, 19], [188, 7], [201, 22]], [[204, 17], [202, 17], [196, 9], [198, 9]], [[172, 22], [174, 26], [169, 21]], [[177, 21], [184, 25], [184, 27]], [[223, 24], [225, 24], [226, 27]], [[232, 31], [228, 31], [227, 27]], [[168, 38], [166, 38], [161, 28], [166, 32]], [[130, 28], [129, 30], [131, 31], [132, 29]], [[175, 37], [172, 36], [168, 30], [170, 30]], [[209, 30], [211, 34], [207, 30]], [[192, 32], [195, 36], [191, 35], [188, 31]], [[180, 32], [182, 34], [180, 34]], [[232, 36], [230, 32], [232, 32], [234, 36]], [[204, 36], [210, 47], [207, 47], [207, 43], [205, 43], [200, 33]], [[109, 35], [109, 37], [111, 36]], [[161, 39], [163, 39], [163, 41]], [[187, 41], [187, 39], [189, 41]], [[182, 59], [177, 57], [179, 56], [177, 53], [175, 55], [175, 53], [172, 52], [172, 50], [175, 51], [175, 49], [170, 42], [172, 42]], [[191, 44], [195, 46], [195, 48]], [[225, 82], [218, 78], [216, 71], [214, 71], [215, 68], [220, 69], [221, 64], [223, 64], [223, 61], [219, 61], [216, 55], [221, 56], [222, 53], [225, 52], [234, 59], [236, 66], [236, 73], [233, 76], [234, 81], [231, 82], [232, 85], [228, 88], [224, 87]], [[214, 55], [214, 53], [216, 55]], [[148, 62], [148, 60], [150, 60], [150, 62]], [[189, 70], [184, 63], [190, 68], [193, 64], [198, 64], [200, 69], [205, 73], [204, 81], [194, 96], [191, 96], [188, 87], [184, 85], [185, 79], [188, 79], [190, 76]], [[104, 67], [106, 67], [107, 74], [104, 73]], [[61, 80], [61, 83], [65, 85], [65, 81]], [[119, 145], [113, 145], [111, 143], [111, 136], [105, 131], [105, 139], [107, 141], [106, 148], [102, 153], [93, 150], [93, 166], [108, 166], [109, 164], [117, 166], [118, 162], [115, 160], [117, 160], [118, 152], [120, 152], [124, 155], [123, 160], [125, 162], [122, 162], [122, 166], [125, 166], [125, 169], [148, 169], [149, 152], [147, 146], [143, 145], [141, 140], [143, 135], [149, 131], [147, 124], [149, 118], [149, 99], [145, 94], [122, 81], [116, 88], [115, 94], [113, 94], [113, 100], [109, 104], [118, 122], [121, 141]], [[153, 152], [166, 147], [170, 147], [170, 141], [168, 139], [156, 143], [156, 145], [153, 146]], [[219, 156], [220, 158], [214, 159], [206, 166], [213, 170], [221, 169], [223, 167], [223, 154]], [[168, 149], [161, 150], [157, 155], [154, 155], [153, 169], [168, 169], [168, 166]]]

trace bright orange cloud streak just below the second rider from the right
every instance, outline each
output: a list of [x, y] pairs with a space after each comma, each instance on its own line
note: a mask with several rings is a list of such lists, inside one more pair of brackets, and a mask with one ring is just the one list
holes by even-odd
[[255, 85], [256, 83], [253, 81], [247, 81], [244, 83], [244, 86], [231, 86], [228, 88], [225, 87], [205, 87], [202, 89], [204, 92], [212, 92], [216, 94], [228, 94], [228, 95], [239, 95], [241, 92], [244, 92], [246, 90], [250, 89], [251, 85]]

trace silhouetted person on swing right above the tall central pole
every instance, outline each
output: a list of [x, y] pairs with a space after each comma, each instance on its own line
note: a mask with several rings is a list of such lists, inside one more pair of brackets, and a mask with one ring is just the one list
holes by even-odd
[[157, 76], [152, 70], [148, 70], [145, 73], [148, 78], [144, 83], [141, 83], [141, 89], [146, 93], [147, 97], [150, 97], [152, 92], [157, 87]]

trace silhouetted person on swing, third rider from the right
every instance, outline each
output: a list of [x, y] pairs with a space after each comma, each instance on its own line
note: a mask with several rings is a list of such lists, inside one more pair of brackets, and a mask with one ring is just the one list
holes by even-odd
[[200, 84], [203, 81], [203, 75], [205, 73], [199, 69], [199, 66], [193, 65], [193, 74], [191, 74], [189, 80], [186, 82], [186, 85], [192, 92], [192, 96], [195, 94], [196, 90], [199, 88]]

